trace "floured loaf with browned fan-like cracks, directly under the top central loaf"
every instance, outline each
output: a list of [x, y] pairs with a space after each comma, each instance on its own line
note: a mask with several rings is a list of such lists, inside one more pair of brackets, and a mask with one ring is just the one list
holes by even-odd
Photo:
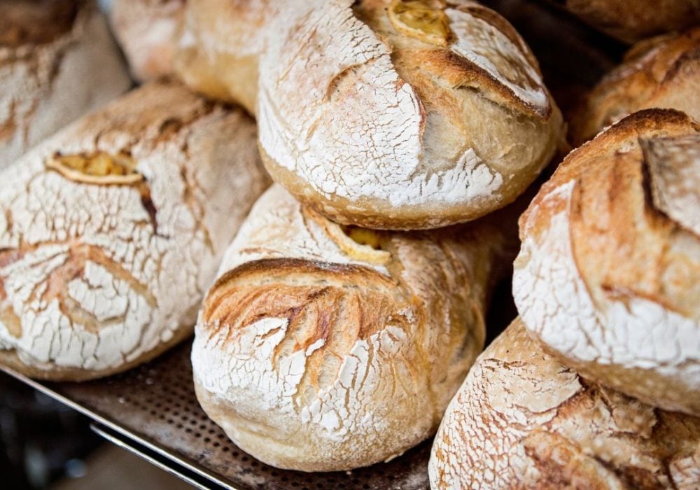
[[273, 186], [197, 321], [204, 411], [279, 468], [348, 470], [426, 439], [483, 347], [502, 225], [342, 228]]

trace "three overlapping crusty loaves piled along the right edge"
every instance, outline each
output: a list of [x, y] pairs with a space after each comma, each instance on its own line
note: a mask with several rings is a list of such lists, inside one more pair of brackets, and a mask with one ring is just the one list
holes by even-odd
[[622, 120], [521, 216], [520, 318], [450, 402], [433, 488], [700, 488], [700, 125], [645, 109], [698, 114], [697, 39], [633, 47], [577, 113], [579, 141]]

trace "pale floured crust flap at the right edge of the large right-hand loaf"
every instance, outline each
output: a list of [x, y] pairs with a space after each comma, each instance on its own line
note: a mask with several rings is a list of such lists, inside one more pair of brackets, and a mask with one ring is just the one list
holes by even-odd
[[654, 206], [700, 236], [700, 134], [640, 141]]

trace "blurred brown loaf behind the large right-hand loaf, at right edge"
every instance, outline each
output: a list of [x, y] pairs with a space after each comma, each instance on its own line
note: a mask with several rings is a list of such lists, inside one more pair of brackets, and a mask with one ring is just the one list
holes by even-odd
[[571, 139], [580, 145], [617, 120], [654, 107], [700, 120], [700, 27], [634, 45], [583, 99], [571, 121]]

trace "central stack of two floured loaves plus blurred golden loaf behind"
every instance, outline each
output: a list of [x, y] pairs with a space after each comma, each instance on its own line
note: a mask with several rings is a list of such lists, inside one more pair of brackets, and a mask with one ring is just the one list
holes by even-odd
[[190, 0], [174, 69], [255, 115], [276, 181], [200, 311], [204, 410], [296, 470], [430, 437], [514, 257], [517, 211], [493, 212], [561, 139], [529, 48], [472, 1]]

